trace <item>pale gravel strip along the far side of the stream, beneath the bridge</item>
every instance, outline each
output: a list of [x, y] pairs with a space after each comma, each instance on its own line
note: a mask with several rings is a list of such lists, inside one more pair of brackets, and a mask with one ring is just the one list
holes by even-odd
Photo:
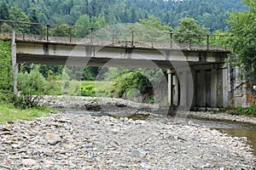
[[[149, 105], [136, 103], [125, 99], [113, 99], [102, 97], [81, 97], [81, 96], [45, 96], [42, 104], [49, 105], [53, 108], [63, 108], [66, 110], [80, 109], [82, 111], [118, 111], [121, 115], [128, 113], [136, 114], [138, 111], [148, 111], [159, 113], [159, 105]], [[162, 115], [168, 114], [169, 108], [161, 111]], [[172, 111], [171, 111], [172, 112]], [[174, 111], [173, 111], [174, 112]], [[172, 114], [172, 113], [171, 113]], [[184, 113], [185, 116], [195, 116], [207, 118], [210, 120], [247, 122], [256, 124], [256, 117], [236, 116], [226, 113], [216, 113], [213, 111], [189, 111]]]

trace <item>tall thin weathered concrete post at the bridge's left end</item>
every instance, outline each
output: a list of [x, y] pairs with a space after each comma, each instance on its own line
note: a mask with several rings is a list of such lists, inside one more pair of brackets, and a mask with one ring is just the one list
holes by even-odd
[[13, 31], [12, 34], [12, 66], [13, 66], [13, 77], [14, 77], [14, 94], [15, 96], [18, 95], [18, 81], [17, 81], [17, 76], [18, 76], [18, 66], [17, 66], [17, 52], [16, 52], [16, 42], [15, 42], [15, 31]]

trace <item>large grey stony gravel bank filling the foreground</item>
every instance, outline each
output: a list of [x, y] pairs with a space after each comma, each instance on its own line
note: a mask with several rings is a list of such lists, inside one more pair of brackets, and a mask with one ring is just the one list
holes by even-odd
[[244, 138], [162, 121], [59, 112], [0, 124], [0, 169], [255, 169]]

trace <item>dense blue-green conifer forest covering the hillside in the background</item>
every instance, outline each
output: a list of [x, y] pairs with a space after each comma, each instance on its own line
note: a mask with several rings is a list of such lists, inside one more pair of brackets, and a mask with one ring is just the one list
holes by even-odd
[[154, 15], [160, 18], [162, 25], [172, 28], [177, 27], [182, 18], [194, 18], [200, 26], [206, 26], [211, 31], [224, 31], [229, 27], [224, 21], [228, 19], [229, 12], [247, 10], [240, 0], [1, 0], [0, 2], [1, 20], [19, 20], [17, 16], [4, 14], [6, 12], [4, 8], [17, 7], [27, 16], [23, 16], [20, 20], [44, 24], [73, 26], [80, 16], [86, 14], [90, 20], [103, 18], [107, 25], [111, 26], [117, 23], [135, 23], [147, 19], [148, 15]]

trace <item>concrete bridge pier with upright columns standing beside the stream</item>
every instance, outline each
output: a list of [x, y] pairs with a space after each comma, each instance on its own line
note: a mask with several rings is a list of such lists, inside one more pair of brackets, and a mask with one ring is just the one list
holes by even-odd
[[190, 71], [168, 71], [170, 105], [194, 110], [229, 105], [229, 71], [226, 64], [197, 65]]

